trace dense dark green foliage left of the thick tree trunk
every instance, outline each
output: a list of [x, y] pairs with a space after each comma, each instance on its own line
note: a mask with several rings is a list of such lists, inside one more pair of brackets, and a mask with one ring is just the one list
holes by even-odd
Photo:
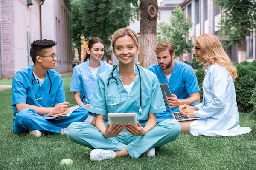
[[109, 54], [111, 35], [119, 28], [128, 26], [134, 12], [127, 0], [72, 0], [71, 5], [73, 37], [79, 39], [82, 35], [85, 40], [99, 37]]

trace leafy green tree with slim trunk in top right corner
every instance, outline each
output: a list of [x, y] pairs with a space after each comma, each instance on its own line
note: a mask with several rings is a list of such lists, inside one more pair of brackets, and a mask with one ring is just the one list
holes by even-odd
[[[255, 0], [216, 0], [223, 14], [220, 20], [221, 35], [228, 35], [230, 45], [238, 44], [238, 51], [246, 51], [246, 36], [256, 28], [256, 1]], [[247, 59], [246, 52], [239, 62]]]

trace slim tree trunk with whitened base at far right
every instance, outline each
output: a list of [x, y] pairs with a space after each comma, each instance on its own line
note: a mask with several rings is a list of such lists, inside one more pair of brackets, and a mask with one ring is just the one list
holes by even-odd
[[[242, 26], [245, 26], [246, 23], [242, 23]], [[242, 37], [241, 42], [238, 44], [238, 50], [237, 50], [237, 61], [243, 62], [243, 61], [247, 61], [247, 51], [246, 51], [246, 37], [245, 37], [245, 33], [246, 30], [244, 30], [244, 27], [242, 27], [241, 29], [241, 33], [240, 36]]]

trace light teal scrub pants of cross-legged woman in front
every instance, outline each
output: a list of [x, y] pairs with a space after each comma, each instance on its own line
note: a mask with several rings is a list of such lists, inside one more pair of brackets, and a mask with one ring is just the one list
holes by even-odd
[[119, 134], [113, 138], [106, 138], [93, 125], [86, 122], [74, 122], [67, 127], [67, 137], [71, 141], [91, 149], [106, 149], [120, 151], [122, 147], [129, 155], [137, 159], [152, 147], [160, 147], [179, 136], [181, 125], [175, 119], [168, 119], [157, 124], [144, 136]]

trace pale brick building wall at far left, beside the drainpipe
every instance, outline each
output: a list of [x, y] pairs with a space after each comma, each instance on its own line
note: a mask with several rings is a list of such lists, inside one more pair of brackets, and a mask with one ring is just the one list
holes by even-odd
[[1, 1], [2, 75], [13, 77], [29, 65], [28, 32], [31, 40], [40, 38], [39, 0], [27, 6], [27, 0]]

